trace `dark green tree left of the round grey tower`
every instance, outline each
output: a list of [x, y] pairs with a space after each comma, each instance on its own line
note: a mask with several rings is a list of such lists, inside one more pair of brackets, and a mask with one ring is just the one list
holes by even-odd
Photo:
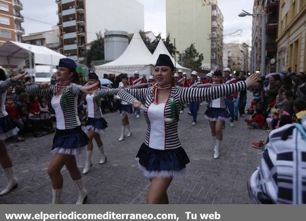
[[92, 61], [104, 60], [104, 40], [101, 32], [96, 33], [96, 39], [91, 42], [90, 48], [86, 50], [86, 62], [90, 65]]

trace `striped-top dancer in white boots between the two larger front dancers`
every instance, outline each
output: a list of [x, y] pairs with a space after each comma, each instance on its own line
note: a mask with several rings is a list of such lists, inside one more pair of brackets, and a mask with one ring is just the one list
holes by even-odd
[[[94, 85], [96, 84], [96, 82], [99, 82], [99, 78], [95, 73], [89, 73], [88, 79], [89, 79], [88, 85]], [[88, 108], [88, 121], [85, 126], [86, 126], [87, 136], [89, 137], [89, 143], [87, 145], [87, 157], [86, 157], [83, 174], [87, 174], [92, 165], [91, 155], [93, 150], [93, 144], [92, 144], [93, 138], [95, 139], [98, 149], [102, 155], [99, 163], [100, 164], [105, 163], [107, 158], [104, 151], [103, 143], [100, 138], [100, 134], [103, 134], [104, 129], [107, 128], [107, 122], [103, 118], [100, 105], [101, 105], [101, 100], [103, 99], [104, 96], [117, 94], [120, 91], [120, 89], [110, 90], [109, 88], [107, 89], [100, 89], [100, 88], [101, 87], [99, 85], [99, 89], [94, 90], [92, 91], [91, 94], [86, 95], [87, 108]], [[127, 92], [125, 92], [125, 94], [128, 95], [130, 102], [133, 102], [135, 100], [135, 98], [132, 97]]]

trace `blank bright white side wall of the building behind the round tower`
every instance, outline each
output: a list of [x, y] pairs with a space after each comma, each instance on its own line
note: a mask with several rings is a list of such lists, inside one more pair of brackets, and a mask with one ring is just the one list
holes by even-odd
[[143, 5], [136, 0], [90, 0], [86, 3], [87, 43], [101, 31], [118, 30], [128, 33], [144, 30]]

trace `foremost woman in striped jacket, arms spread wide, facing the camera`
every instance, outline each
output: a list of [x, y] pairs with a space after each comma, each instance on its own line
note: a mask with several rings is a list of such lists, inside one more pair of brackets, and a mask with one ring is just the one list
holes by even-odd
[[[213, 100], [253, 86], [260, 77], [251, 75], [246, 81], [214, 88], [172, 87], [174, 65], [169, 56], [160, 54], [154, 77], [158, 86], [146, 89], [126, 89], [148, 109], [144, 112], [148, 127], [145, 141], [138, 153], [138, 165], [151, 185], [148, 204], [167, 204], [167, 188], [174, 177], [183, 177], [189, 158], [177, 135], [181, 106], [190, 101]], [[121, 92], [118, 93], [119, 96]], [[124, 98], [124, 97], [123, 97]]]

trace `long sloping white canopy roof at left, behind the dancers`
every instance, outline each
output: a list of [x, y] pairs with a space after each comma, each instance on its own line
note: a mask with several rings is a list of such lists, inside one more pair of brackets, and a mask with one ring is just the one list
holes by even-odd
[[25, 66], [25, 59], [29, 57], [29, 51], [34, 56], [34, 64], [56, 66], [60, 59], [66, 58], [47, 47], [7, 41], [0, 46], [0, 65], [15, 65], [22, 68]]

